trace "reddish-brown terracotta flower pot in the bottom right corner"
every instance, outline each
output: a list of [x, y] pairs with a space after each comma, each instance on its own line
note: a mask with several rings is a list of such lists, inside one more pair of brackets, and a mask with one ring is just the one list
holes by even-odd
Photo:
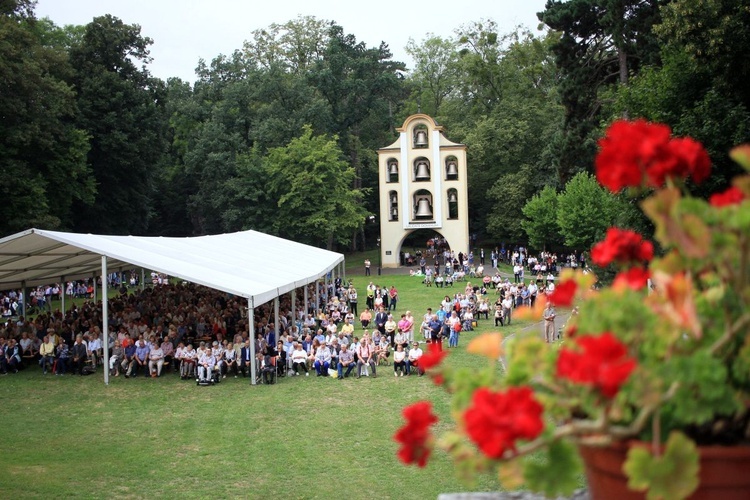
[[[647, 446], [645, 443], [635, 445]], [[628, 489], [628, 478], [622, 466], [629, 446], [626, 443], [604, 448], [579, 446], [592, 499], [646, 498], [644, 493]], [[698, 451], [700, 484], [690, 499], [750, 499], [750, 446], [699, 446]]]

